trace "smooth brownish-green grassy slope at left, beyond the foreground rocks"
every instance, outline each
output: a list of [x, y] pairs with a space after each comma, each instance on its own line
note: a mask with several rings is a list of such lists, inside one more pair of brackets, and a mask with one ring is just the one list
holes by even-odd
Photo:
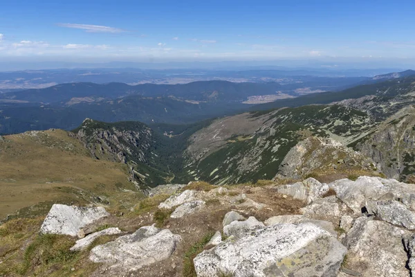
[[[5, 137], [0, 142], [0, 219], [42, 202], [84, 204], [98, 195], [122, 193], [123, 188], [135, 190], [126, 165], [93, 159], [65, 131]], [[34, 214], [48, 208], [41, 210]]]

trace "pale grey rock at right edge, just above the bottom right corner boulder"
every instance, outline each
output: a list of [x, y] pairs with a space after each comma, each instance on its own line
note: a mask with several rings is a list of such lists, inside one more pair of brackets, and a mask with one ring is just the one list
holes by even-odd
[[368, 213], [373, 213], [385, 222], [415, 230], [415, 214], [400, 202], [395, 200], [367, 202], [366, 207]]

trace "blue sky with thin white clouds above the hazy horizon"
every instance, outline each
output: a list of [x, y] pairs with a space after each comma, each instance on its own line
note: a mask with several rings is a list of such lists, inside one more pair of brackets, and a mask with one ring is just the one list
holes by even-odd
[[21, 1], [1, 60], [415, 58], [415, 1]]

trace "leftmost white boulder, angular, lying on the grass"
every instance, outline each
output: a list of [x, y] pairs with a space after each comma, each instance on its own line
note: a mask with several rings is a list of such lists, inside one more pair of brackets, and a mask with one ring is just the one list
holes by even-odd
[[75, 236], [84, 226], [108, 215], [103, 207], [53, 204], [40, 227], [40, 233]]

